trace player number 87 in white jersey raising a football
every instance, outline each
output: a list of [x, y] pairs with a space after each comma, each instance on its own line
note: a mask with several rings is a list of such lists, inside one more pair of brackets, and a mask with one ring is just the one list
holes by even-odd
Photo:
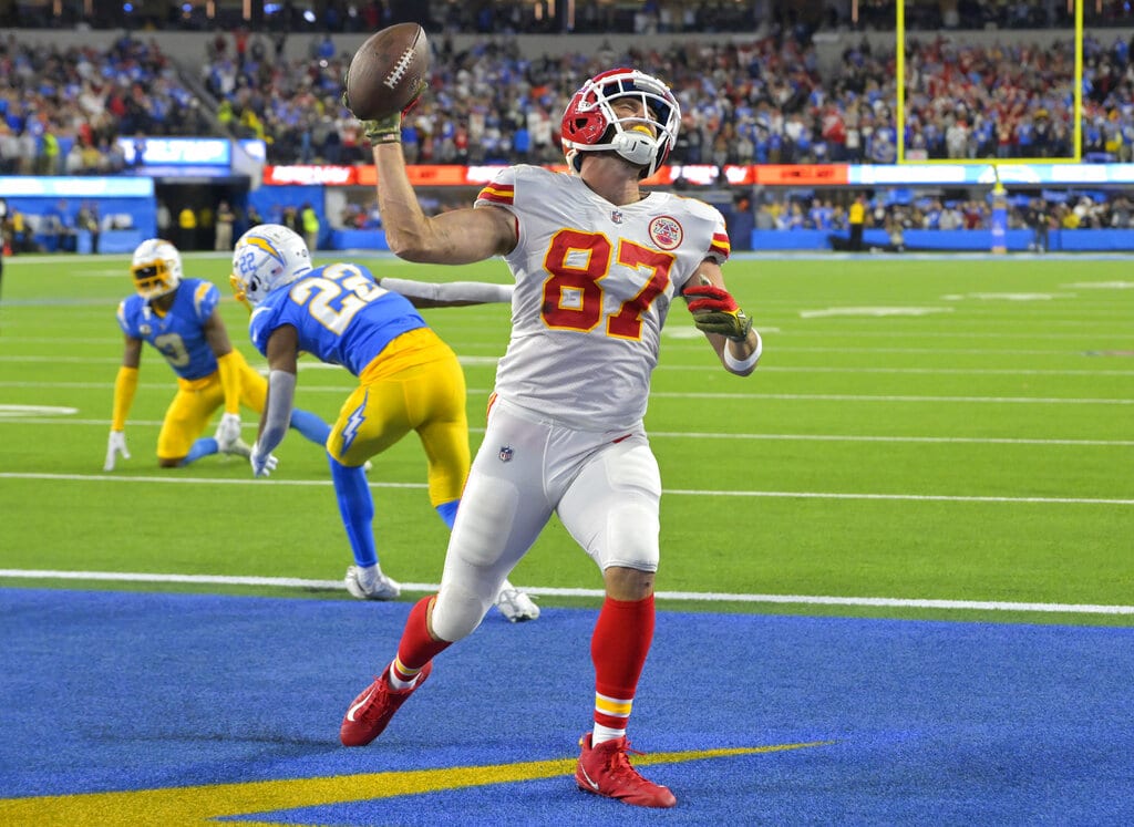
[[[423, 86], [424, 88], [424, 86]], [[349, 88], [345, 96], [349, 106]], [[513, 330], [446, 554], [441, 588], [411, 611], [395, 659], [349, 706], [344, 744], [367, 744], [468, 635], [500, 583], [558, 514], [602, 572], [591, 639], [593, 725], [579, 740], [583, 791], [641, 807], [674, 794], [627, 758], [626, 724], [653, 638], [659, 559], [658, 464], [643, 429], [660, 332], [688, 302], [725, 370], [750, 374], [760, 336], [725, 289], [729, 242], [701, 201], [644, 192], [680, 111], [635, 69], [589, 79], [562, 118], [570, 175], [501, 170], [473, 208], [428, 218], [406, 175], [400, 117], [364, 121], [390, 248], [408, 261], [465, 264], [500, 255], [516, 278]]]

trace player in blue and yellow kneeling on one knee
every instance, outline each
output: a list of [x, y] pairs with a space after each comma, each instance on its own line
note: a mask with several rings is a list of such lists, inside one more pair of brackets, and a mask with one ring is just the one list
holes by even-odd
[[[240, 440], [242, 403], [264, 410], [268, 382], [232, 348], [225, 322], [215, 312], [220, 290], [210, 281], [181, 278], [181, 254], [169, 242], [151, 238], [134, 251], [130, 267], [137, 295], [118, 305], [118, 326], [126, 336], [122, 365], [115, 380], [115, 406], [104, 471], [118, 455], [129, 458], [126, 417], [137, 390], [142, 344], [154, 347], [177, 374], [178, 390], [158, 436], [161, 467], [187, 465], [210, 454], [247, 457]], [[214, 437], [201, 437], [221, 405], [225, 413]], [[295, 411], [291, 427], [323, 445], [330, 427], [307, 411]]]

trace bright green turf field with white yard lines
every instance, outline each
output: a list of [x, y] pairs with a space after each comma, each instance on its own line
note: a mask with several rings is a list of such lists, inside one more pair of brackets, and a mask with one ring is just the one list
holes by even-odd
[[[324, 261], [330, 261], [325, 259]], [[386, 275], [506, 281], [501, 262]], [[325, 459], [291, 433], [269, 480], [236, 459], [159, 471], [174, 374], [143, 354], [133, 459], [102, 472], [121, 357], [125, 258], [6, 261], [0, 296], [0, 569], [336, 581], [350, 560]], [[186, 256], [226, 296], [228, 259]], [[675, 305], [648, 427], [662, 467], [663, 600], [686, 608], [1134, 624], [1134, 614], [1017, 611], [830, 598], [1134, 605], [1134, 280], [1119, 259], [735, 260], [726, 277], [764, 335], [761, 368], [727, 374]], [[254, 365], [246, 312], [222, 305]], [[463, 357], [481, 438], [502, 305], [426, 313]], [[297, 405], [333, 420], [353, 387], [305, 363]], [[24, 407], [32, 406], [32, 407]], [[44, 408], [44, 410], [40, 410]], [[246, 412], [252, 441], [254, 414]], [[371, 473], [383, 568], [435, 583], [447, 532], [409, 438]], [[552, 525], [513, 580], [598, 589]], [[342, 599], [331, 588], [0, 576], [2, 585], [223, 590]], [[804, 599], [806, 598], [806, 599]], [[815, 600], [820, 598], [821, 600]], [[415, 599], [409, 593], [406, 599]], [[594, 599], [555, 593], [544, 605]]]

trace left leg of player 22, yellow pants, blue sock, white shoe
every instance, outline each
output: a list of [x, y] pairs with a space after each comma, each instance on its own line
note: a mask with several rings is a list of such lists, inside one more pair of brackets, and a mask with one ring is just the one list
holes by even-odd
[[382, 573], [374, 542], [374, 498], [365, 462], [409, 432], [405, 394], [397, 381], [359, 386], [347, 397], [327, 440], [331, 481], [355, 565], [347, 568], [347, 591], [359, 599], [390, 600], [398, 584]]

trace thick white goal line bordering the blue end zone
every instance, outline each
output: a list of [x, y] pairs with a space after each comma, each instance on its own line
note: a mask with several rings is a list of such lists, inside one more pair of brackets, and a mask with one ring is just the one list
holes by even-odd
[[[142, 574], [137, 572], [59, 572], [34, 568], [0, 568], [0, 577], [27, 580], [94, 580], [124, 583], [196, 583], [203, 585], [270, 585], [285, 589], [342, 589], [340, 580], [301, 580], [298, 577], [238, 577], [212, 574]], [[405, 591], [435, 592], [438, 583], [403, 583]], [[601, 598], [601, 589], [556, 589], [523, 587], [538, 597]], [[922, 600], [906, 598], [826, 597], [816, 594], [729, 594], [725, 592], [659, 591], [660, 600], [688, 602], [795, 604], [810, 606], [879, 606], [911, 609], [957, 609], [982, 611], [1043, 611], [1083, 615], [1134, 615], [1134, 606], [1093, 604], [1016, 604], [995, 600]]]

